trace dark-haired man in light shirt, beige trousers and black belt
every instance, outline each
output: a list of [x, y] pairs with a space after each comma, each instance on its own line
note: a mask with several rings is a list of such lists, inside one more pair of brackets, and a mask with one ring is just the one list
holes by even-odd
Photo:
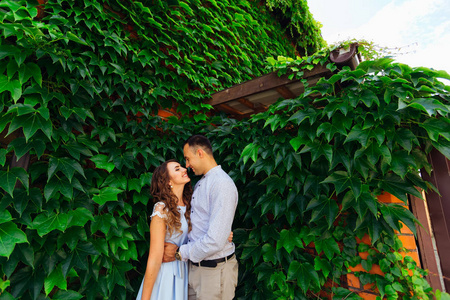
[[209, 140], [191, 136], [183, 145], [186, 168], [203, 175], [191, 200], [192, 230], [188, 243], [166, 244], [164, 262], [173, 257], [189, 264], [189, 299], [233, 299], [238, 263], [228, 241], [238, 202], [236, 185], [216, 163]]

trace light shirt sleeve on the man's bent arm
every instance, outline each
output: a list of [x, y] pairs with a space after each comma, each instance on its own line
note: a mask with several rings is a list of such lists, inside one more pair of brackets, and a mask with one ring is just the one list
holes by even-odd
[[238, 192], [231, 180], [215, 181], [209, 192], [210, 220], [206, 234], [195, 242], [180, 247], [183, 260], [199, 262], [221, 251], [228, 243]]

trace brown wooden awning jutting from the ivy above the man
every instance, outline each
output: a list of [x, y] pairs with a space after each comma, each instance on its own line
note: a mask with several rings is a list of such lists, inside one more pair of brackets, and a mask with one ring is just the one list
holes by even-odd
[[[338, 66], [348, 65], [355, 68], [359, 63], [356, 54], [357, 45], [353, 44], [348, 49], [333, 51], [330, 60]], [[216, 110], [242, 119], [267, 110], [280, 98], [292, 99], [299, 96], [304, 91], [302, 80], [306, 80], [308, 86], [311, 86], [320, 78], [328, 78], [331, 75], [332, 72], [325, 66], [315, 66], [312, 70], [304, 70], [303, 77], [299, 79], [289, 79], [289, 75], [279, 77], [276, 72], [272, 72], [219, 91], [213, 94], [207, 103]]]

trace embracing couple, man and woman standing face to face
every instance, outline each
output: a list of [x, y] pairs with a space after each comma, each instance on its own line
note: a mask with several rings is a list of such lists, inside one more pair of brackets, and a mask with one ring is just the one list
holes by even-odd
[[186, 168], [203, 176], [192, 192], [187, 169], [175, 160], [153, 173], [150, 251], [136, 300], [234, 297], [238, 263], [230, 231], [236, 186], [206, 137], [191, 136], [183, 153]]

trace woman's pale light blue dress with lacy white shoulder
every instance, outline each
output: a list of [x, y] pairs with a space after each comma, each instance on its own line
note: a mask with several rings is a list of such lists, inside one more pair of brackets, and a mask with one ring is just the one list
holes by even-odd
[[[158, 205], [164, 203], [158, 202], [153, 207], [153, 213], [151, 217], [159, 216], [165, 218], [155, 211]], [[188, 224], [184, 213], [186, 212], [186, 206], [178, 206], [180, 211], [181, 230], [180, 232], [173, 232], [172, 235], [166, 233], [165, 242], [176, 244], [178, 247], [187, 243]], [[136, 300], [149, 300], [141, 299], [144, 280], [142, 280], [141, 288], [136, 297]], [[155, 285], [152, 290], [152, 297], [150, 300], [186, 300], [188, 298], [188, 268], [187, 262], [184, 261], [172, 261], [168, 263], [162, 263], [159, 269], [158, 277], [156, 278]]]

